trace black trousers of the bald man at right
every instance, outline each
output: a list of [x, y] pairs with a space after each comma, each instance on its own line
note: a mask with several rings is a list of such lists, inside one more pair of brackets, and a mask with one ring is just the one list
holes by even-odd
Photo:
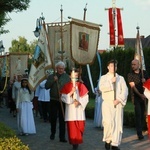
[[145, 103], [143, 100], [135, 99], [134, 111], [137, 135], [141, 136], [145, 119]]

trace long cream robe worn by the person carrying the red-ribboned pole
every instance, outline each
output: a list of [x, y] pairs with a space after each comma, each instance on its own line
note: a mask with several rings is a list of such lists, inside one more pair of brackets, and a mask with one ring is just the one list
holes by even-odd
[[[114, 107], [112, 97], [112, 91], [114, 91], [113, 84], [111, 82], [112, 76], [107, 73], [100, 79], [99, 88], [103, 93], [107, 93], [107, 99], [103, 99], [102, 102], [102, 116], [103, 116], [103, 141], [113, 146], [118, 146], [121, 143], [123, 133], [123, 108], [126, 105], [128, 88], [124, 78], [116, 74], [116, 99], [120, 103]], [[109, 96], [111, 95], [111, 96]]]

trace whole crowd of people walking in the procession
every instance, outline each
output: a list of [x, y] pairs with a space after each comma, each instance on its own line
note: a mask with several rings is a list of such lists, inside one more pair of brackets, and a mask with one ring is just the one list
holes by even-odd
[[[95, 111], [95, 116], [103, 129], [102, 141], [106, 150], [120, 150], [123, 110], [129, 94], [124, 77], [117, 73], [117, 64], [116, 60], [108, 62], [108, 72], [100, 77], [96, 88], [96, 100], [101, 102], [99, 109]], [[127, 75], [127, 82], [134, 104], [137, 138], [142, 140], [146, 114], [148, 114], [148, 137], [150, 138], [150, 79], [147, 72], [140, 69], [138, 60], [134, 59], [131, 62], [131, 68], [132, 71]], [[73, 68], [66, 73], [65, 64], [60, 61], [56, 63], [55, 69], [56, 71], [48, 75], [35, 91], [31, 91], [28, 87], [26, 77], [18, 75], [17, 80], [10, 83], [8, 88], [10, 113], [13, 117], [17, 117], [20, 135], [36, 134], [35, 112], [43, 122], [50, 123], [50, 140], [55, 140], [56, 126], [59, 123], [60, 142], [66, 143], [68, 139], [72, 148], [78, 149], [83, 143], [89, 89], [81, 79], [79, 68]], [[68, 138], [66, 138], [66, 128]]]

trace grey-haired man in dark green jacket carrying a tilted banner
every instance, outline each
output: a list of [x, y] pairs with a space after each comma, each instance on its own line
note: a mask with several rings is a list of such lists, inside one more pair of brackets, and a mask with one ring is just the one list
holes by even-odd
[[[56, 122], [57, 117], [59, 118], [59, 139], [60, 142], [67, 142], [65, 138], [65, 121], [64, 121], [64, 107], [65, 104], [61, 103], [60, 90], [70, 81], [70, 77], [65, 73], [65, 64], [60, 61], [56, 65], [56, 73], [49, 75], [45, 89], [50, 90], [50, 124], [51, 124], [51, 135], [50, 139], [55, 139], [56, 133]], [[62, 105], [61, 105], [62, 104]]]

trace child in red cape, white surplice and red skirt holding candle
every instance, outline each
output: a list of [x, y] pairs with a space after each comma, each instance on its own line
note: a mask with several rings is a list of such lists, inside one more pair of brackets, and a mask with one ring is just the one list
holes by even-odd
[[61, 100], [66, 103], [65, 121], [67, 123], [69, 143], [73, 149], [83, 143], [85, 128], [85, 108], [89, 102], [88, 89], [78, 81], [79, 72], [74, 69], [70, 72], [71, 81], [66, 83], [61, 93]]

